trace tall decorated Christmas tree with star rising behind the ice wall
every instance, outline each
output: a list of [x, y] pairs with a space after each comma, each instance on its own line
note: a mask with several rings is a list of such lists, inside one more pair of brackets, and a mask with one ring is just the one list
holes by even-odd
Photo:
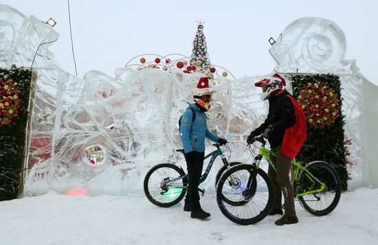
[[210, 58], [205, 34], [203, 33], [202, 21], [198, 21], [197, 33], [193, 40], [192, 56], [190, 56], [190, 64], [196, 65], [199, 68], [199, 71], [205, 75], [212, 76], [210, 69], [214, 68], [210, 67]]

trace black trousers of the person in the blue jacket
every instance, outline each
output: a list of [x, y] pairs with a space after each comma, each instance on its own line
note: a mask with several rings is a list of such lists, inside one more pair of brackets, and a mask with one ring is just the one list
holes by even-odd
[[194, 151], [194, 157], [192, 159], [188, 159], [185, 156], [186, 167], [187, 167], [188, 176], [189, 176], [189, 183], [188, 183], [188, 189], [186, 190], [185, 202], [190, 204], [192, 211], [197, 211], [201, 209], [201, 205], [199, 205], [198, 186], [199, 186], [199, 179], [201, 178], [201, 174], [202, 174], [204, 158], [205, 158], [205, 152]]

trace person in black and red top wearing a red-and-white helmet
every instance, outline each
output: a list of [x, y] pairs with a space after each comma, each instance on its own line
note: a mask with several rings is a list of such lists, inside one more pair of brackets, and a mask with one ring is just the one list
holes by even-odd
[[[293, 185], [289, 173], [291, 161], [299, 152], [306, 136], [305, 121], [302, 121], [302, 117], [300, 117], [300, 121], [297, 121], [298, 106], [295, 106], [290, 93], [283, 89], [285, 85], [285, 79], [277, 73], [256, 82], [255, 86], [263, 89], [261, 99], [269, 100], [269, 113], [264, 123], [252, 131], [247, 138], [247, 143], [252, 143], [254, 137], [263, 134], [263, 137], [268, 139], [271, 150], [276, 153], [276, 172], [270, 165], [268, 170], [268, 175], [274, 186], [274, 205], [269, 215], [282, 215], [282, 193], [285, 199], [285, 215], [276, 220], [275, 224], [277, 225], [298, 223]], [[301, 109], [299, 110], [302, 112]], [[302, 132], [296, 131], [298, 124]]]

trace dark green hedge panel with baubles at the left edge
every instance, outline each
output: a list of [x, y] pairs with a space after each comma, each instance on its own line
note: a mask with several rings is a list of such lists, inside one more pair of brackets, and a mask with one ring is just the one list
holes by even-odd
[[19, 195], [31, 80], [30, 69], [0, 69], [0, 201]]

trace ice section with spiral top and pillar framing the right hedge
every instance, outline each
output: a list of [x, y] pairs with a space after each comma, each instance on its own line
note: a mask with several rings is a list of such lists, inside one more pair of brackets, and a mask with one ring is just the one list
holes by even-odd
[[293, 21], [269, 50], [279, 73], [334, 73], [342, 82], [345, 138], [352, 180], [348, 187], [378, 187], [378, 87], [359, 73], [355, 60], [344, 60], [346, 38], [341, 28], [326, 19]]

